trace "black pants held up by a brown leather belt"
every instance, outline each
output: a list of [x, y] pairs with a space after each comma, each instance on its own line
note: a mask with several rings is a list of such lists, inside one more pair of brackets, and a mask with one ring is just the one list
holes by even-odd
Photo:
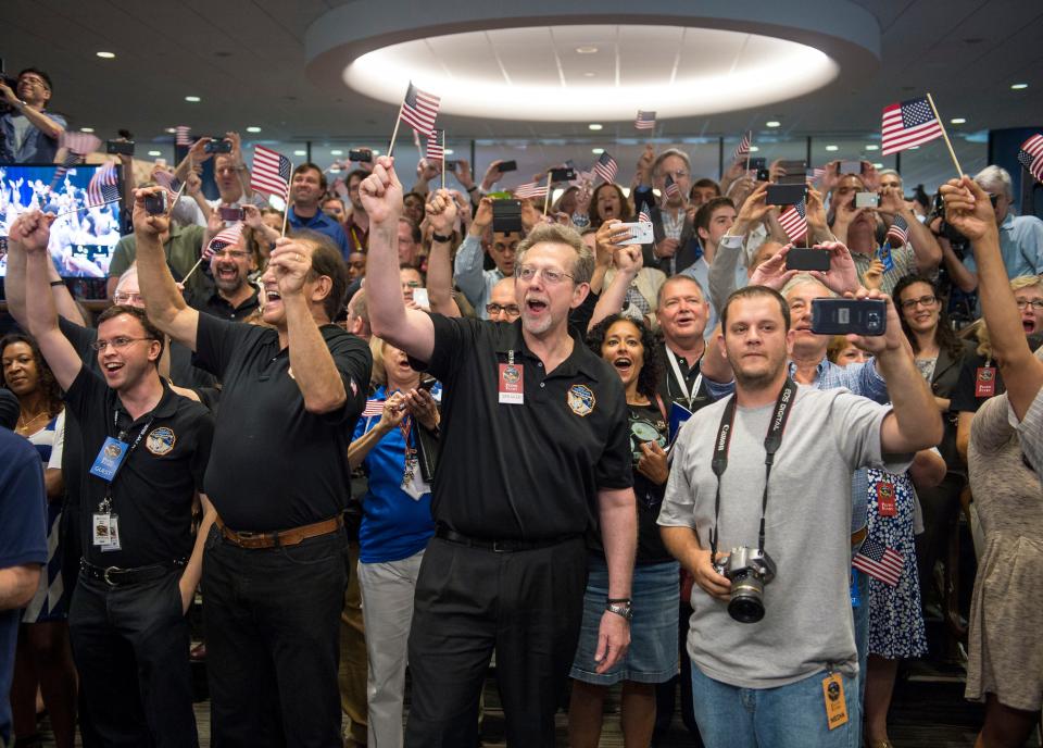
[[340, 748], [343, 531], [246, 550], [216, 527], [203, 557], [203, 620], [214, 748]]

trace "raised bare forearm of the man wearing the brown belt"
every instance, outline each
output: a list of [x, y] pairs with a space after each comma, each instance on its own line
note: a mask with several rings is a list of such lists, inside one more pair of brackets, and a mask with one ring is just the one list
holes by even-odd
[[149, 215], [144, 198], [163, 187], [139, 189], [134, 194], [134, 236], [137, 241], [138, 285], [144, 310], [153, 325], [184, 346], [196, 350], [199, 312], [185, 303], [166, 264], [160, 235], [169, 226], [166, 215]]

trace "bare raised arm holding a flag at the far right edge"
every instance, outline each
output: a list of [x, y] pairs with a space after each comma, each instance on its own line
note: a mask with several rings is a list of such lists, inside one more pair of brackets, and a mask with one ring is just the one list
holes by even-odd
[[1007, 270], [1000, 254], [1000, 234], [989, 195], [969, 176], [942, 185], [945, 221], [970, 239], [978, 264], [978, 298], [989, 326], [992, 352], [1000, 363], [1007, 398], [1018, 419], [1023, 419], [1043, 387], [1043, 362], [1025, 337], [1021, 315], [1014, 301]]

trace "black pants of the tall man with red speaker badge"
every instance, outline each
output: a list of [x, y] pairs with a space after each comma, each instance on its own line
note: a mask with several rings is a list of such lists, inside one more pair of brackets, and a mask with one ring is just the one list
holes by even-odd
[[507, 745], [552, 748], [586, 587], [581, 538], [510, 553], [433, 538], [410, 633], [406, 746], [477, 745], [478, 697], [495, 650]]

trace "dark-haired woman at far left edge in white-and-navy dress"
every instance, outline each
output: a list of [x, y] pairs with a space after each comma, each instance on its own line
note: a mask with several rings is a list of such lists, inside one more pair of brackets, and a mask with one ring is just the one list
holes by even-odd
[[[65, 484], [61, 447], [65, 414], [61, 390], [40, 349], [28, 335], [0, 338], [0, 386], [18, 398], [21, 413], [15, 433], [36, 447], [47, 486], [48, 553], [40, 586], [22, 614], [11, 685], [11, 709], [18, 745], [38, 745], [36, 689], [51, 715], [59, 748], [72, 748], [76, 723], [76, 671], [68, 644], [68, 600], [62, 584], [62, 556], [58, 544]], [[56, 467], [50, 467], [55, 465]]]

